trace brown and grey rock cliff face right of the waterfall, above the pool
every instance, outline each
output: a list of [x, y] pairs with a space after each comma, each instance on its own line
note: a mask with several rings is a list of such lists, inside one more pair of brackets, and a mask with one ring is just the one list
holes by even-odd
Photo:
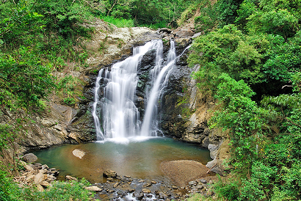
[[181, 64], [184, 65], [177, 63], [162, 98], [162, 129], [166, 135], [208, 148], [213, 160], [206, 166], [214, 166], [212, 171], [223, 175], [223, 162], [230, 157], [228, 133], [208, 128], [208, 120], [218, 106], [213, 97], [199, 91], [196, 80], [190, 76], [198, 66], [191, 69], [185, 62]]

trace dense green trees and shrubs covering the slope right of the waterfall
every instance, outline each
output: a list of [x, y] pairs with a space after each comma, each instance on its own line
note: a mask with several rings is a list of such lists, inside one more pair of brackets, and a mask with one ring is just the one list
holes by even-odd
[[[217, 184], [216, 190], [229, 200], [299, 200], [300, 1], [228, 3], [210, 7], [218, 11], [214, 25], [221, 28], [207, 27], [188, 59], [200, 66], [193, 75], [200, 89], [219, 100], [211, 127], [229, 131], [228, 163], [241, 181]], [[206, 27], [199, 22], [205, 20], [197, 27]]]

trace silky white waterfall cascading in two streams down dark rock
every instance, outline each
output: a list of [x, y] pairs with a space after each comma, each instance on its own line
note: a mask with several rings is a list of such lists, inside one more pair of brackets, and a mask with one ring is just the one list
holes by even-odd
[[[156, 64], [150, 72], [152, 84], [144, 98], [144, 104], [147, 107], [141, 126], [140, 114], [134, 103], [138, 82], [137, 68], [142, 56], [152, 49], [156, 49]], [[163, 66], [163, 43], [161, 40], [153, 40], [144, 46], [134, 47], [133, 56], [115, 63], [110, 70], [101, 69], [99, 71], [94, 88], [95, 100], [92, 112], [97, 140], [157, 136], [158, 100], [164, 87], [167, 86], [168, 77], [176, 58], [175, 43], [171, 41], [167, 64]], [[99, 100], [98, 92], [101, 79], [104, 80], [106, 86], [104, 87], [103, 98]], [[96, 112], [97, 106], [101, 108], [100, 114]]]

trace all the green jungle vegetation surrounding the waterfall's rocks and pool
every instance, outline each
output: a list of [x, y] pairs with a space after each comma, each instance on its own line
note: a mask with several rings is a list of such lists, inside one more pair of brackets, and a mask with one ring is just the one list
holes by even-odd
[[[200, 65], [199, 89], [219, 100], [211, 128], [229, 130], [232, 147], [231, 176], [213, 186], [217, 199], [301, 199], [301, 1], [6, 0], [0, 11], [0, 107], [14, 112], [43, 107], [51, 90], [77, 81], [57, 82], [55, 72], [85, 65], [77, 40], [92, 30], [84, 22], [175, 28], [198, 11], [203, 34], [188, 61]], [[0, 151], [12, 146], [20, 121], [0, 125]], [[0, 171], [0, 200], [46, 196], [35, 193]]]

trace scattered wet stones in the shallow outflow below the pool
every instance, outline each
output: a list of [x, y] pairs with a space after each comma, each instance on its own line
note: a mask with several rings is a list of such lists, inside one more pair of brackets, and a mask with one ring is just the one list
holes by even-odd
[[[206, 181], [208, 181], [206, 184], [201, 182], [201, 179], [196, 179], [191, 181], [187, 186], [179, 188], [169, 180], [142, 180], [139, 178], [132, 178], [127, 175], [117, 176], [117, 178], [108, 178], [106, 182], [93, 184], [94, 186], [102, 189], [96, 193], [94, 198], [114, 201], [184, 200], [190, 193], [198, 192], [207, 195], [213, 181], [211, 178], [206, 179]], [[202, 181], [204, 180], [205, 179], [202, 179]], [[212, 194], [214, 194], [214, 192], [210, 191], [210, 195]]]

